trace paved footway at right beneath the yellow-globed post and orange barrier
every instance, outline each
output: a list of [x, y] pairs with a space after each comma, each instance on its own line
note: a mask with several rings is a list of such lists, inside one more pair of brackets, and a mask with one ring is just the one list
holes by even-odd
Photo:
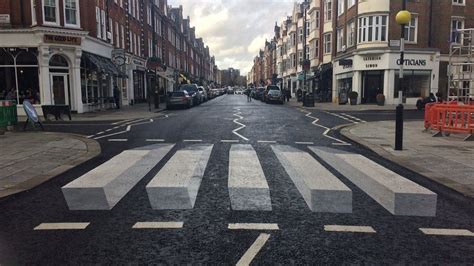
[[423, 129], [423, 121], [404, 123], [403, 151], [393, 148], [393, 121], [359, 123], [341, 133], [387, 160], [474, 198], [474, 142], [456, 134], [431, 137]]

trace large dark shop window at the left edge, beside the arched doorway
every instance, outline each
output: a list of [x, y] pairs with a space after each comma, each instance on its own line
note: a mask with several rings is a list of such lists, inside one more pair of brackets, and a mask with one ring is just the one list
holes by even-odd
[[35, 49], [0, 49], [0, 99], [41, 103]]

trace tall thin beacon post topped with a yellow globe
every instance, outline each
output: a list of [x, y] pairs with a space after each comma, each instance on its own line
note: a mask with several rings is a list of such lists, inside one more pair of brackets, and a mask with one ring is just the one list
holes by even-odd
[[400, 73], [398, 80], [398, 106], [395, 122], [395, 150], [403, 150], [403, 66], [405, 64], [405, 25], [411, 21], [411, 14], [406, 10], [407, 0], [402, 0], [402, 10], [398, 12], [395, 20], [401, 26], [400, 35]]

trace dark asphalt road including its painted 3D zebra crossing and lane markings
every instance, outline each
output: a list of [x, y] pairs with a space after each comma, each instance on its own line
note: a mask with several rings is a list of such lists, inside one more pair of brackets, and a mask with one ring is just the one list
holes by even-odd
[[[329, 130], [374, 115], [336, 114], [225, 95], [152, 121], [46, 125], [102, 154], [0, 200], [0, 264], [472, 264], [474, 202]], [[71, 210], [61, 188], [78, 178]], [[87, 193], [104, 179], [117, 202], [99, 210]]]

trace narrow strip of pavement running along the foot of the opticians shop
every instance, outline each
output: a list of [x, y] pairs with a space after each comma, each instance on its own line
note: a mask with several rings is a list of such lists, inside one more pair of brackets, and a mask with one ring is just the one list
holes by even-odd
[[[298, 102], [295, 97], [292, 97], [289, 102], [290, 106], [293, 107], [303, 107], [302, 102]], [[315, 103], [314, 107], [304, 107], [307, 110], [321, 110], [321, 111], [335, 111], [335, 112], [358, 112], [358, 111], [392, 111], [397, 107], [396, 104], [386, 104], [379, 106], [376, 104], [357, 104], [350, 105], [347, 104], [336, 104], [336, 103]], [[405, 110], [416, 110], [415, 105], [405, 105]]]

